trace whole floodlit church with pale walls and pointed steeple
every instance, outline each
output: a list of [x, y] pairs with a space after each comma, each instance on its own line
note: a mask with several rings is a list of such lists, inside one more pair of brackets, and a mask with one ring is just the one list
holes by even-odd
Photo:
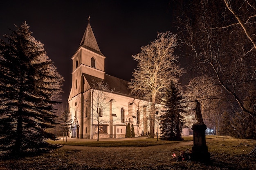
[[[128, 81], [106, 74], [105, 59], [89, 20], [72, 57], [72, 87], [68, 98], [73, 120], [70, 137], [97, 139], [99, 133], [99, 138], [122, 138], [128, 123], [133, 125], [135, 136], [145, 135], [149, 131], [150, 103], [132, 96]], [[107, 84], [112, 91], [94, 89], [96, 81]], [[105, 96], [104, 103], [97, 103], [99, 98], [95, 94]]]

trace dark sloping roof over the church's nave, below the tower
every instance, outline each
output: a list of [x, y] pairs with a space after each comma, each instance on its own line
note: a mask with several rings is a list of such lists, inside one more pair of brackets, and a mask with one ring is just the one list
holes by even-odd
[[[90, 87], [92, 87], [92, 81], [101, 81], [101, 78], [97, 78], [88, 74], [83, 73], [83, 76], [88, 81]], [[110, 76], [105, 74], [104, 83], [108, 83], [110, 89], [115, 89], [114, 92], [117, 94], [132, 96], [130, 95], [130, 89], [128, 89], [128, 81], [122, 80], [120, 78]]]

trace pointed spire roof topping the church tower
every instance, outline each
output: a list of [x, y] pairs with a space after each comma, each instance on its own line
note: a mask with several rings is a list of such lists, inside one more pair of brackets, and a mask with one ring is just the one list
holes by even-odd
[[92, 27], [90, 25], [90, 23], [88, 23], [86, 29], [85, 29], [85, 32], [83, 34], [83, 38], [81, 40], [81, 43], [80, 43], [80, 46], [88, 49], [88, 50], [91, 50], [97, 54], [100, 54], [102, 56], [104, 56], [101, 51], [99, 50], [99, 46], [98, 46], [98, 43], [96, 41], [96, 38], [94, 36], [94, 33], [92, 31]]

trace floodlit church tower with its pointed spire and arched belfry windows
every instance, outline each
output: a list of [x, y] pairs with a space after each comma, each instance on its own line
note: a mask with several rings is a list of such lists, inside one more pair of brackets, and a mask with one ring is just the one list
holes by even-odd
[[86, 91], [83, 74], [104, 79], [105, 58], [99, 49], [89, 20], [80, 46], [72, 57], [72, 87], [68, 98], [70, 113], [74, 121], [72, 137], [83, 138], [83, 131], [87, 131], [87, 128], [83, 128], [84, 92]]

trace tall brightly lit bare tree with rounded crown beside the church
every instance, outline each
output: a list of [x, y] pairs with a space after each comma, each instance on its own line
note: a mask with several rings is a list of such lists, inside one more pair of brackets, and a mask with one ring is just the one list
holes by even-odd
[[137, 70], [129, 83], [131, 93], [151, 102], [150, 132], [154, 138], [155, 103], [159, 101], [169, 83], [177, 83], [184, 70], [178, 65], [178, 57], [173, 54], [177, 38], [170, 32], [157, 33], [157, 39], [141, 47], [141, 52], [133, 55], [138, 62]]

